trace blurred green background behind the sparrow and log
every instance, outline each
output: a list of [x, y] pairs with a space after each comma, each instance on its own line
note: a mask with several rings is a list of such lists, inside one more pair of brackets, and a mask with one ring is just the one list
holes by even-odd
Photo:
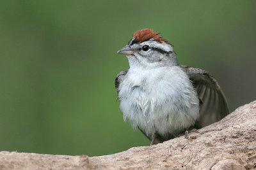
[[125, 123], [117, 50], [151, 28], [209, 71], [230, 111], [256, 99], [256, 1], [1, 1], [0, 150], [106, 155], [149, 145]]

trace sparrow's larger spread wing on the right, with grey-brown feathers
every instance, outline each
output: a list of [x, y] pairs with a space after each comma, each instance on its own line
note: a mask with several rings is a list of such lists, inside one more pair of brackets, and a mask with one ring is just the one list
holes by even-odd
[[200, 117], [196, 127], [204, 127], [228, 115], [228, 104], [217, 81], [204, 69], [184, 67], [200, 100]]

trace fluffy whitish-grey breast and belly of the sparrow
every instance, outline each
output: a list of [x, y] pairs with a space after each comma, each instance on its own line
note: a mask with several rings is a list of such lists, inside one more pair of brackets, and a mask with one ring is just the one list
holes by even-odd
[[175, 135], [198, 118], [198, 97], [179, 66], [130, 68], [119, 90], [124, 120], [148, 136]]

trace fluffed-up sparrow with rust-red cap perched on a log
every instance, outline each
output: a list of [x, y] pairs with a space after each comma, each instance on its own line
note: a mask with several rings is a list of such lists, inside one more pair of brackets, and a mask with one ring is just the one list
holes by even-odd
[[117, 53], [129, 69], [116, 75], [115, 88], [124, 121], [150, 145], [200, 129], [228, 115], [218, 82], [204, 69], [179, 64], [173, 45], [153, 29], [140, 29]]

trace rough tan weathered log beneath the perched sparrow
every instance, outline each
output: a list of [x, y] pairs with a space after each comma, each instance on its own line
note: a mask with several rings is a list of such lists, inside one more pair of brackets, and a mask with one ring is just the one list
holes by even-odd
[[0, 169], [256, 169], [256, 101], [188, 139], [100, 157], [0, 152]]

